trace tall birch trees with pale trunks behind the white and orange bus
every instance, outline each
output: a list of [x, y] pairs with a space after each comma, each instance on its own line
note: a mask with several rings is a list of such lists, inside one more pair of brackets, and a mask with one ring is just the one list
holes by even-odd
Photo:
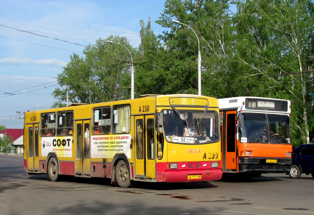
[[[313, 3], [234, 1], [235, 54], [228, 75], [236, 95], [289, 99], [294, 145], [309, 142], [313, 112]], [[309, 73], [311, 72], [311, 73]], [[310, 89], [311, 88], [311, 89]]]

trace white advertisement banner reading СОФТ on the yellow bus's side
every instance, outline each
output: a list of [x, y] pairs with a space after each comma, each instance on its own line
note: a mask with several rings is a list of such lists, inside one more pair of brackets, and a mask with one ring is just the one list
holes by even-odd
[[72, 137], [42, 137], [41, 156], [55, 152], [58, 157], [72, 157]]

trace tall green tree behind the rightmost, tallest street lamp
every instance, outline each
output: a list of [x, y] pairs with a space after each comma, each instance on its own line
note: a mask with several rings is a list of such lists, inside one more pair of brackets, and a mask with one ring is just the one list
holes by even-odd
[[[202, 57], [202, 94], [223, 97], [228, 94], [225, 72], [232, 55], [232, 22], [229, 4], [225, 0], [167, 0], [156, 23], [170, 28], [160, 38], [165, 42], [165, 68], [171, 75], [169, 89], [173, 93], [197, 94], [198, 40], [184, 25], [171, 22], [176, 19], [189, 25], [198, 35]], [[221, 90], [224, 88], [225, 90]]]

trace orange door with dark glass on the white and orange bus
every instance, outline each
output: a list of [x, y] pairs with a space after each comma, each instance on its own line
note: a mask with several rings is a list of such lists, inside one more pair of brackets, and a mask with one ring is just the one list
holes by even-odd
[[223, 171], [234, 171], [237, 168], [236, 159], [236, 111], [223, 112], [222, 130]]

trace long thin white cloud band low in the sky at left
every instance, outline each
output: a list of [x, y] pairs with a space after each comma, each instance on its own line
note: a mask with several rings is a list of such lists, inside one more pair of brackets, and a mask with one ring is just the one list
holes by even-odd
[[22, 58], [2, 58], [0, 63], [3, 64], [35, 64], [35, 65], [51, 65], [57, 67], [64, 67], [67, 65], [67, 62], [63, 62], [58, 59], [42, 59], [42, 60], [33, 60], [33, 59], [22, 59]]

